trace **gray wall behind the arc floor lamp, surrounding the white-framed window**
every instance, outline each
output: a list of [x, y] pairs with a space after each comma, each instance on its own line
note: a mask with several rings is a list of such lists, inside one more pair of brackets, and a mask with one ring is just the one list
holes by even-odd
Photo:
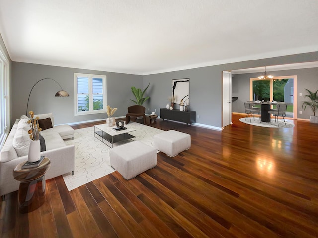
[[26, 113], [30, 90], [42, 78], [52, 78], [59, 82], [70, 97], [55, 97], [54, 95], [60, 90], [60, 87], [52, 80], [43, 80], [32, 91], [28, 111], [32, 110], [36, 114], [53, 112], [55, 124], [107, 118], [106, 113], [74, 116], [74, 73], [107, 76], [107, 105], [118, 108], [114, 114], [115, 117], [125, 116], [127, 107], [134, 104], [130, 101], [130, 99], [134, 99], [131, 86], [143, 87], [141, 75], [12, 62], [12, 120], [14, 121]]

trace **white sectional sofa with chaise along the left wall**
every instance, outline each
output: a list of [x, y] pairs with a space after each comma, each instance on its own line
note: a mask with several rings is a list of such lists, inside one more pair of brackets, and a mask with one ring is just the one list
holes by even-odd
[[[54, 125], [52, 113], [35, 115], [40, 119], [51, 119]], [[17, 119], [0, 152], [0, 195], [5, 195], [19, 189], [19, 181], [13, 178], [13, 169], [19, 163], [28, 159], [30, 138], [27, 131], [30, 129], [27, 123], [28, 117], [22, 115]], [[51, 160], [51, 167], [45, 174], [45, 179], [51, 179], [66, 173], [74, 173], [75, 149], [74, 145], [66, 145], [64, 139], [72, 138], [74, 129], [69, 125], [58, 125], [41, 131], [45, 139], [46, 150], [41, 155]]]

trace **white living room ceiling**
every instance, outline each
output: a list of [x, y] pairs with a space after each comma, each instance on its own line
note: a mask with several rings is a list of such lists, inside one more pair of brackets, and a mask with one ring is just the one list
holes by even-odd
[[318, 51], [318, 0], [0, 0], [11, 60], [147, 75]]

